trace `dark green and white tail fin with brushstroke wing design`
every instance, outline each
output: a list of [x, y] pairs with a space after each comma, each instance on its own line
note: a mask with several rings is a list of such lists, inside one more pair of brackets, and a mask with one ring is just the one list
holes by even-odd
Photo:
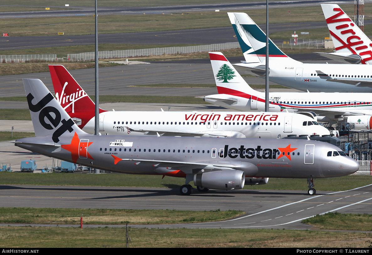
[[[266, 34], [257, 26], [256, 23], [246, 14], [241, 12], [228, 13], [230, 22], [234, 27], [235, 34], [239, 43], [243, 43], [243, 54], [249, 55], [250, 58], [256, 56], [261, 63], [266, 62]], [[234, 24], [233, 24], [234, 23]], [[235, 25], [235, 26], [234, 26]], [[248, 45], [248, 43], [250, 45]], [[248, 47], [252, 47], [253, 51]], [[269, 39], [269, 61], [296, 61], [289, 58]], [[298, 62], [298, 61], [296, 61]]]

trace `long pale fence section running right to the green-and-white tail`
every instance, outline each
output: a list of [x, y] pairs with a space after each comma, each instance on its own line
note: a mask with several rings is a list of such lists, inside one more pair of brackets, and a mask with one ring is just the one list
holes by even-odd
[[[185, 47], [166, 47], [166, 48], [151, 48], [151, 49], [127, 49], [123, 51], [99, 51], [98, 58], [128, 58], [141, 56], [156, 56], [168, 54], [186, 54], [206, 51], [222, 51], [225, 49], [240, 48], [238, 42], [217, 43], [210, 45], [196, 45]], [[90, 61], [94, 59], [94, 52], [84, 52], [79, 54], [70, 54], [70, 61]]]

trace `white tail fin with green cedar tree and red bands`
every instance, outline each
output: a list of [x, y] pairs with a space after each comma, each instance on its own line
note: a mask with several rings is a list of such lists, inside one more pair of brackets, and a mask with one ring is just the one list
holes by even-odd
[[218, 94], [259, 94], [235, 70], [221, 52], [209, 52]]

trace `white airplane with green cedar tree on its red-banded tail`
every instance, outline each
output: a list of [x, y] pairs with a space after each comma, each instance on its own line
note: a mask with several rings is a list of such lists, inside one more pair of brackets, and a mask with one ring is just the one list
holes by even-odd
[[[204, 101], [238, 111], [265, 109], [264, 92], [249, 87], [221, 52], [209, 52], [209, 56], [219, 94], [202, 97]], [[269, 103], [270, 112], [313, 112], [321, 122], [372, 128], [372, 98], [368, 93], [270, 92]]]

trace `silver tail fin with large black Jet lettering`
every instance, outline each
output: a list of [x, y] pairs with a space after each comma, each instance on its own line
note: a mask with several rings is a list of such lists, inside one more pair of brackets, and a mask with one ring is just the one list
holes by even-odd
[[89, 135], [68, 116], [39, 79], [23, 79], [35, 136], [51, 136], [58, 143], [60, 136]]

